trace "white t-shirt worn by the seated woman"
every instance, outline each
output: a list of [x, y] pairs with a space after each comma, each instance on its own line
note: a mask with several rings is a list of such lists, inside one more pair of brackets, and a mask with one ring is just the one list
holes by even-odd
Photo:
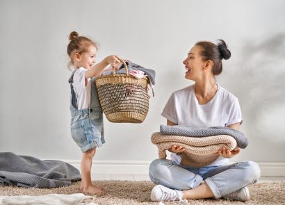
[[[207, 104], [200, 105], [195, 96], [195, 84], [172, 93], [161, 115], [179, 125], [194, 127], [229, 126], [243, 122], [238, 98], [218, 85], [215, 96]], [[180, 164], [181, 157], [171, 154], [172, 161]], [[219, 156], [211, 165], [224, 165], [229, 158]]]

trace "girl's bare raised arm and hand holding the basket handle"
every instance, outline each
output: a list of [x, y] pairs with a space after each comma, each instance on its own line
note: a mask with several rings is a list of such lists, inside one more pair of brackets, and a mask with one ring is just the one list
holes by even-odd
[[99, 74], [104, 70], [104, 68], [107, 65], [112, 65], [113, 67], [116, 67], [117, 64], [120, 63], [118, 56], [107, 56], [102, 60], [100, 63], [97, 63], [95, 66], [93, 66], [91, 69], [88, 69], [88, 71], [85, 73], [85, 78], [89, 79], [94, 76], [99, 76]]

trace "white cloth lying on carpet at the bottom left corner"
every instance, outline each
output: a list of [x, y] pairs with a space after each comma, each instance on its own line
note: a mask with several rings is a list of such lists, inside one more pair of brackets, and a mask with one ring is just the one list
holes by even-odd
[[1, 205], [97, 205], [95, 197], [83, 195], [81, 193], [72, 195], [40, 195], [40, 196], [0, 196]]

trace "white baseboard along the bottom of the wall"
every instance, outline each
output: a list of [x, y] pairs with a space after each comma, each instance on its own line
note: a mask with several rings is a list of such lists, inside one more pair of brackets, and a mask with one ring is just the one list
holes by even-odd
[[[63, 160], [80, 170], [79, 160]], [[148, 174], [150, 161], [92, 161], [92, 174]], [[261, 176], [285, 176], [285, 163], [258, 162]]]

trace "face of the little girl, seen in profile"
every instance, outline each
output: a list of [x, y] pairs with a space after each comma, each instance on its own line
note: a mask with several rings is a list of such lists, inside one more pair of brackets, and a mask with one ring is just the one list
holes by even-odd
[[91, 69], [96, 63], [97, 49], [95, 46], [90, 45], [87, 52], [80, 55], [78, 61], [78, 67], [84, 67], [86, 69]]

